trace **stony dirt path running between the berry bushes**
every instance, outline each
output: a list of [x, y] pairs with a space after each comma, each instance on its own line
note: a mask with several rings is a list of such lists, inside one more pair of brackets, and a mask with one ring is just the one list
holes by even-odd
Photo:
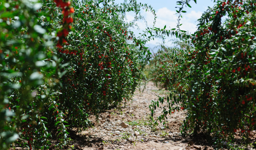
[[[151, 131], [148, 125], [148, 106], [156, 95], [163, 96], [166, 91], [159, 90], [148, 82], [143, 92], [135, 92], [131, 102], [123, 108], [114, 108], [100, 114], [93, 128], [73, 136], [71, 144], [78, 150], [210, 150], [205, 142], [194, 143], [179, 135], [179, 126], [185, 113], [176, 112], [169, 116], [169, 129], [159, 125], [158, 130]], [[160, 110], [156, 111], [159, 114]], [[124, 123], [121, 123], [124, 122]], [[120, 126], [123, 124], [123, 127]], [[128, 125], [126, 128], [125, 126]], [[190, 144], [190, 145], [189, 145]]]

